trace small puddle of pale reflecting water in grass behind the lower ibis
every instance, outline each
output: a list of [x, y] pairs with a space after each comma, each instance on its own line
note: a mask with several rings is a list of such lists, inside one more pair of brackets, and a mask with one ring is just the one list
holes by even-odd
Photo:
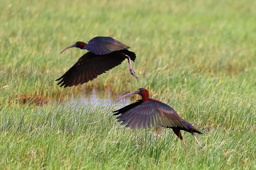
[[116, 102], [119, 97], [117, 95], [112, 94], [110, 91], [84, 91], [79, 92], [78, 94], [72, 94], [71, 99], [69, 100], [70, 103], [83, 105], [83, 104], [93, 104], [94, 106], [97, 105], [105, 105], [111, 106], [116, 104], [117, 108], [121, 108], [131, 104], [131, 98], [123, 98]]

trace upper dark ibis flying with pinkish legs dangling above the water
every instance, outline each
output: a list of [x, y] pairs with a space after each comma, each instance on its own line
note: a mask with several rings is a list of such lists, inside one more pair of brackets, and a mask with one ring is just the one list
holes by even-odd
[[138, 79], [131, 64], [131, 60], [135, 62], [136, 54], [127, 50], [130, 47], [122, 42], [111, 37], [94, 37], [88, 44], [77, 41], [75, 44], [62, 50], [61, 53], [73, 47], [86, 49], [88, 52], [79, 58], [63, 76], [55, 80], [60, 80], [57, 84], [61, 84], [60, 87], [63, 85], [64, 87], [71, 87], [87, 83], [89, 80], [93, 80], [98, 75], [106, 73], [106, 71], [121, 64], [125, 58], [128, 59], [130, 73]]

